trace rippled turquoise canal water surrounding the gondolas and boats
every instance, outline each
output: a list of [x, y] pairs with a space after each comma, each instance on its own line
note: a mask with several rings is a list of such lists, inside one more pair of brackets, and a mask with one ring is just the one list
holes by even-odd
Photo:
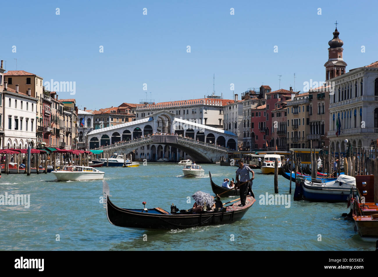
[[[203, 178], [184, 178], [182, 166], [148, 163], [137, 168], [100, 168], [118, 207], [191, 208], [197, 190], [211, 191], [235, 178], [236, 167], [203, 164]], [[102, 181], [57, 182], [54, 174], [3, 174], [0, 194], [29, 194], [30, 207], [0, 205], [0, 250], [375, 250], [345, 221], [346, 203], [293, 201], [260, 205], [260, 195], [273, 194], [273, 175], [255, 170], [256, 202], [242, 220], [232, 224], [186, 230], [148, 231], [110, 224], [100, 203]], [[289, 181], [279, 176], [279, 193]], [[294, 193], [294, 184], [293, 191]], [[188, 198], [191, 200], [189, 202]], [[223, 198], [223, 202], [236, 197]], [[267, 201], [268, 202], [268, 201]]]

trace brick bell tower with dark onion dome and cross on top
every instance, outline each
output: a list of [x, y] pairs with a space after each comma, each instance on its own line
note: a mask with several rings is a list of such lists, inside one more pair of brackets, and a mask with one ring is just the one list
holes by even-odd
[[333, 32], [333, 39], [328, 41], [328, 61], [324, 64], [325, 66], [325, 80], [329, 80], [340, 76], [345, 73], [345, 67], [347, 64], [342, 59], [342, 45], [344, 44], [341, 39], [339, 39], [339, 31], [337, 31], [337, 21], [336, 29]]

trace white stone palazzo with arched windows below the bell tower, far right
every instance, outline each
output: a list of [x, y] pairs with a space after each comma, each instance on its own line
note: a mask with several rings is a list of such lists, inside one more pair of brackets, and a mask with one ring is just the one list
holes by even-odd
[[[353, 147], [369, 147], [378, 135], [378, 61], [330, 79], [335, 92], [330, 99], [331, 149], [345, 152], [345, 139]], [[340, 133], [336, 121], [340, 119]], [[338, 135], [338, 136], [337, 136]], [[353, 148], [353, 152], [356, 148]]]

